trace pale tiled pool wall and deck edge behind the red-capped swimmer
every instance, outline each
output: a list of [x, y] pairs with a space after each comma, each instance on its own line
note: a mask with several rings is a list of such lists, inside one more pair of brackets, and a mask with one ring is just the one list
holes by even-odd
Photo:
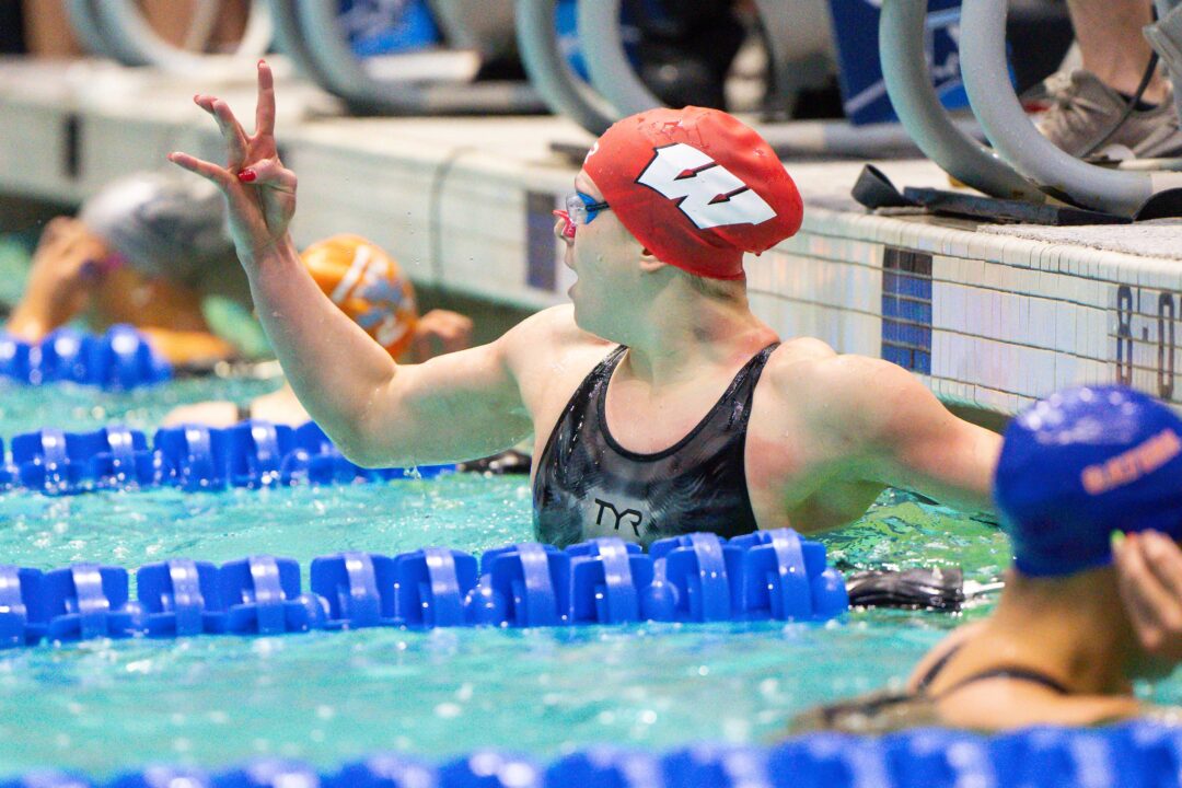
[[[209, 84], [105, 63], [0, 61], [0, 194], [77, 202], [186, 150], [220, 158], [201, 91], [249, 117], [251, 74]], [[560, 118], [349, 118], [284, 77], [278, 138], [300, 177], [299, 243], [359, 233], [416, 281], [541, 308], [570, 272], [550, 210], [577, 165]], [[862, 162], [787, 162], [799, 234], [748, 260], [752, 304], [782, 336], [914, 370], [941, 397], [1012, 413], [1052, 389], [1123, 380], [1182, 406], [1176, 386], [1182, 226], [1004, 228], [870, 215], [849, 197]], [[948, 188], [922, 161], [882, 162], [900, 185]], [[1026, 237], [1024, 237], [1024, 235]]]

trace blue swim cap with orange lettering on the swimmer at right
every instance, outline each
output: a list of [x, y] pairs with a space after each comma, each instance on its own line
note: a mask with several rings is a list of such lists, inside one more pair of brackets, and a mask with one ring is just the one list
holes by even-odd
[[1182, 419], [1123, 386], [1057, 392], [1011, 422], [993, 495], [1031, 577], [1106, 566], [1113, 530], [1182, 539]]

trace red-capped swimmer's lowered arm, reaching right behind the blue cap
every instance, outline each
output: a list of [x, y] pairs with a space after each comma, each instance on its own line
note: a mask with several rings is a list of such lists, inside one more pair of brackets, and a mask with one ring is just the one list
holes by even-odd
[[[860, 356], [823, 363], [843, 439], [866, 481], [914, 489], [967, 512], [992, 510], [1001, 436], [961, 421], [901, 366]], [[830, 419], [833, 422], [833, 419]]]

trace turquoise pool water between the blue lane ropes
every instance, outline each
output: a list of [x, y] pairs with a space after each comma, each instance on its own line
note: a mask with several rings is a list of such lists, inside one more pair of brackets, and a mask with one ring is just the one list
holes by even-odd
[[[142, 392], [0, 384], [0, 437], [119, 421], [150, 430], [175, 404], [245, 402], [274, 382], [183, 380]], [[457, 475], [336, 488], [45, 497], [0, 494], [0, 562], [129, 568], [168, 558], [298, 559], [428, 545], [480, 553], [531, 540], [521, 477]], [[844, 568], [962, 566], [988, 582], [996, 528], [890, 491], [824, 538]], [[306, 587], [306, 578], [305, 578]], [[493, 745], [553, 757], [592, 743], [665, 749], [767, 742], [812, 704], [902, 682], [960, 616], [864, 611], [827, 625], [644, 624], [570, 630], [362, 630], [41, 645], [0, 652], [0, 776], [54, 766], [95, 776], [253, 755], [332, 768], [376, 750], [442, 760]], [[1182, 699], [1182, 683], [1141, 688]]]

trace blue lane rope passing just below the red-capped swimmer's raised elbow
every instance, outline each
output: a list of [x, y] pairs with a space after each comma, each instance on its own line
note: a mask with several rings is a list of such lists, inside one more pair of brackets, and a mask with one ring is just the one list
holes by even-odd
[[299, 428], [264, 421], [226, 429], [200, 424], [156, 431], [152, 445], [121, 425], [93, 432], [43, 429], [17, 435], [5, 457], [0, 489], [21, 487], [47, 495], [100, 489], [170, 486], [188, 491], [274, 484], [352, 484], [391, 478], [430, 478], [455, 465], [415, 469], [355, 465], [314, 422]]

